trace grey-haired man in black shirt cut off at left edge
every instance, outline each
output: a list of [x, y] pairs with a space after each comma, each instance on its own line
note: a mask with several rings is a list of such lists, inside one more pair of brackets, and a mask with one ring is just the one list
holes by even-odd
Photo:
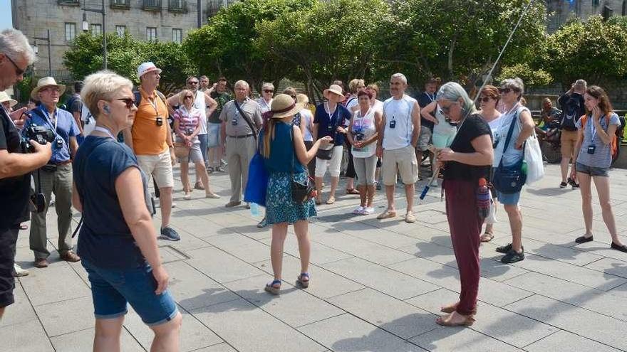
[[[35, 60], [28, 39], [20, 31], [0, 32], [0, 90], [24, 79], [24, 70]], [[21, 149], [19, 127], [24, 125], [26, 109], [9, 114], [0, 106], [0, 319], [4, 308], [14, 303], [13, 265], [19, 225], [28, 220], [30, 172], [46, 164], [51, 144], [29, 142], [33, 152]]]

